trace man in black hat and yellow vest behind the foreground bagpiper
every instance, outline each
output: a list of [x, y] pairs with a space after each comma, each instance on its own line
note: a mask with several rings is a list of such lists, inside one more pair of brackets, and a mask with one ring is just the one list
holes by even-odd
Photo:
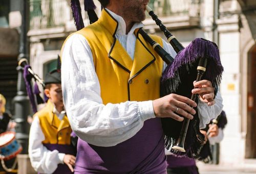
[[29, 135], [29, 157], [38, 173], [73, 173], [75, 148], [72, 129], [63, 105], [61, 77], [53, 70], [45, 78], [46, 106], [33, 116]]

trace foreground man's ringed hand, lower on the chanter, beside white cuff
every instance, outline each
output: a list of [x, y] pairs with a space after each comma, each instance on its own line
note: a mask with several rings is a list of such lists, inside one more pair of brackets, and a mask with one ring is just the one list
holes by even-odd
[[169, 94], [153, 101], [153, 108], [156, 117], [170, 117], [177, 121], [183, 121], [184, 118], [180, 117], [176, 113], [186, 118], [193, 119], [193, 115], [196, 114], [193, 107], [196, 106], [196, 102], [177, 94]]

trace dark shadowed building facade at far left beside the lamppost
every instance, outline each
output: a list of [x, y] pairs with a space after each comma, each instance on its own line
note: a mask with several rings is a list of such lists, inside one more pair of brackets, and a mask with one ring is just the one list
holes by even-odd
[[10, 28], [9, 14], [13, 11], [10, 1], [0, 2], [0, 93], [6, 97], [6, 109], [12, 112], [12, 99], [17, 88], [17, 57], [19, 34]]

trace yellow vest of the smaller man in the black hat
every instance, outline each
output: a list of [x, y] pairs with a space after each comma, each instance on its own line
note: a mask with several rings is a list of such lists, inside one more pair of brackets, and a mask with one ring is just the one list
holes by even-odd
[[53, 113], [53, 107], [49, 100], [46, 107], [35, 113], [45, 135], [45, 140], [42, 143], [70, 145], [72, 129], [68, 117], [65, 115], [62, 120], [59, 120], [57, 115]]

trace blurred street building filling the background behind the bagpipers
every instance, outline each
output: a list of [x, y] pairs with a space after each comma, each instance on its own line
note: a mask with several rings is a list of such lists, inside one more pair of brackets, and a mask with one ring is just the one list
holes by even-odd
[[[0, 93], [7, 96], [9, 107], [16, 93], [16, 29], [21, 18], [15, 2], [0, 2]], [[94, 2], [99, 16], [100, 5]], [[83, 0], [80, 3], [83, 6]], [[184, 46], [197, 37], [219, 45], [225, 70], [220, 91], [228, 119], [220, 163], [249, 165], [248, 159], [256, 159], [256, 1], [151, 0], [150, 6]], [[66, 37], [76, 31], [70, 0], [30, 0], [29, 11], [30, 65], [44, 78], [56, 67]], [[89, 24], [83, 10], [82, 15], [84, 23]], [[150, 17], [143, 23], [147, 32], [164, 38]]]

